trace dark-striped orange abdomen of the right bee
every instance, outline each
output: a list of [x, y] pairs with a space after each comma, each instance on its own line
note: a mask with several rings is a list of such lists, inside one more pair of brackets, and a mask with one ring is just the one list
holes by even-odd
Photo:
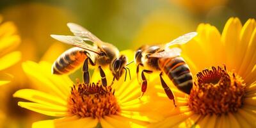
[[193, 77], [182, 57], [160, 58], [159, 67], [179, 90], [188, 94], [190, 93], [193, 87]]

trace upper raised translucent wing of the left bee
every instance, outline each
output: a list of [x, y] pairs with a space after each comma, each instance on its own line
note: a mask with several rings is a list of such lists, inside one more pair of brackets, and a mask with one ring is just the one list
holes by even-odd
[[102, 42], [99, 38], [97, 38], [97, 36], [93, 35], [90, 31], [78, 24], [69, 22], [67, 26], [75, 36], [79, 36], [81, 38], [89, 38], [92, 40], [92, 42]]

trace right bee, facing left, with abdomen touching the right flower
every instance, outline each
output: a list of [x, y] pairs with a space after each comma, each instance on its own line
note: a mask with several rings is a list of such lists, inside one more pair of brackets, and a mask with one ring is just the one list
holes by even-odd
[[[139, 83], [141, 83], [141, 96], [147, 90], [147, 79], [144, 73], [160, 72], [159, 77], [163, 86], [164, 92], [169, 99], [173, 100], [175, 104], [174, 95], [172, 90], [167, 86], [163, 80], [163, 72], [166, 74], [172, 83], [182, 92], [190, 93], [193, 87], [192, 74], [189, 70], [186, 61], [180, 57], [181, 50], [177, 47], [170, 49], [171, 45], [175, 44], [186, 44], [194, 36], [196, 32], [187, 33], [183, 36], [179, 36], [172, 42], [165, 45], [143, 45], [140, 47], [135, 54], [135, 63], [137, 66], [136, 73]], [[141, 80], [139, 80], [140, 66], [147, 68], [141, 72]]]

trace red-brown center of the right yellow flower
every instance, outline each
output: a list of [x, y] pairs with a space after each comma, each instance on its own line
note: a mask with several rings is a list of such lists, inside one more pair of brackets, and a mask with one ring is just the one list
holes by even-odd
[[226, 67], [212, 67], [196, 74], [188, 106], [201, 115], [236, 112], [243, 104], [245, 84]]

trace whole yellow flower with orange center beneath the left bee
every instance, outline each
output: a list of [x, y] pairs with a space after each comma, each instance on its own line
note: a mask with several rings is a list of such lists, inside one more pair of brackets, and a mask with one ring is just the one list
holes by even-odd
[[[133, 52], [121, 53], [132, 60]], [[27, 61], [22, 67], [38, 89], [15, 92], [13, 97], [31, 101], [19, 102], [19, 106], [44, 115], [61, 117], [35, 122], [33, 127], [145, 127], [150, 122], [162, 119], [162, 116], [151, 111], [149, 106], [154, 108], [154, 104], [146, 96], [138, 99], [140, 86], [135, 79], [134, 65], [130, 67], [131, 81], [124, 82], [122, 77], [108, 88], [93, 85], [100, 80], [97, 70], [91, 79], [93, 84], [89, 86], [79, 82], [74, 84], [65, 75], [52, 75], [51, 64], [44, 61]], [[106, 68], [104, 71], [108, 83], [111, 83], [111, 72]]]

